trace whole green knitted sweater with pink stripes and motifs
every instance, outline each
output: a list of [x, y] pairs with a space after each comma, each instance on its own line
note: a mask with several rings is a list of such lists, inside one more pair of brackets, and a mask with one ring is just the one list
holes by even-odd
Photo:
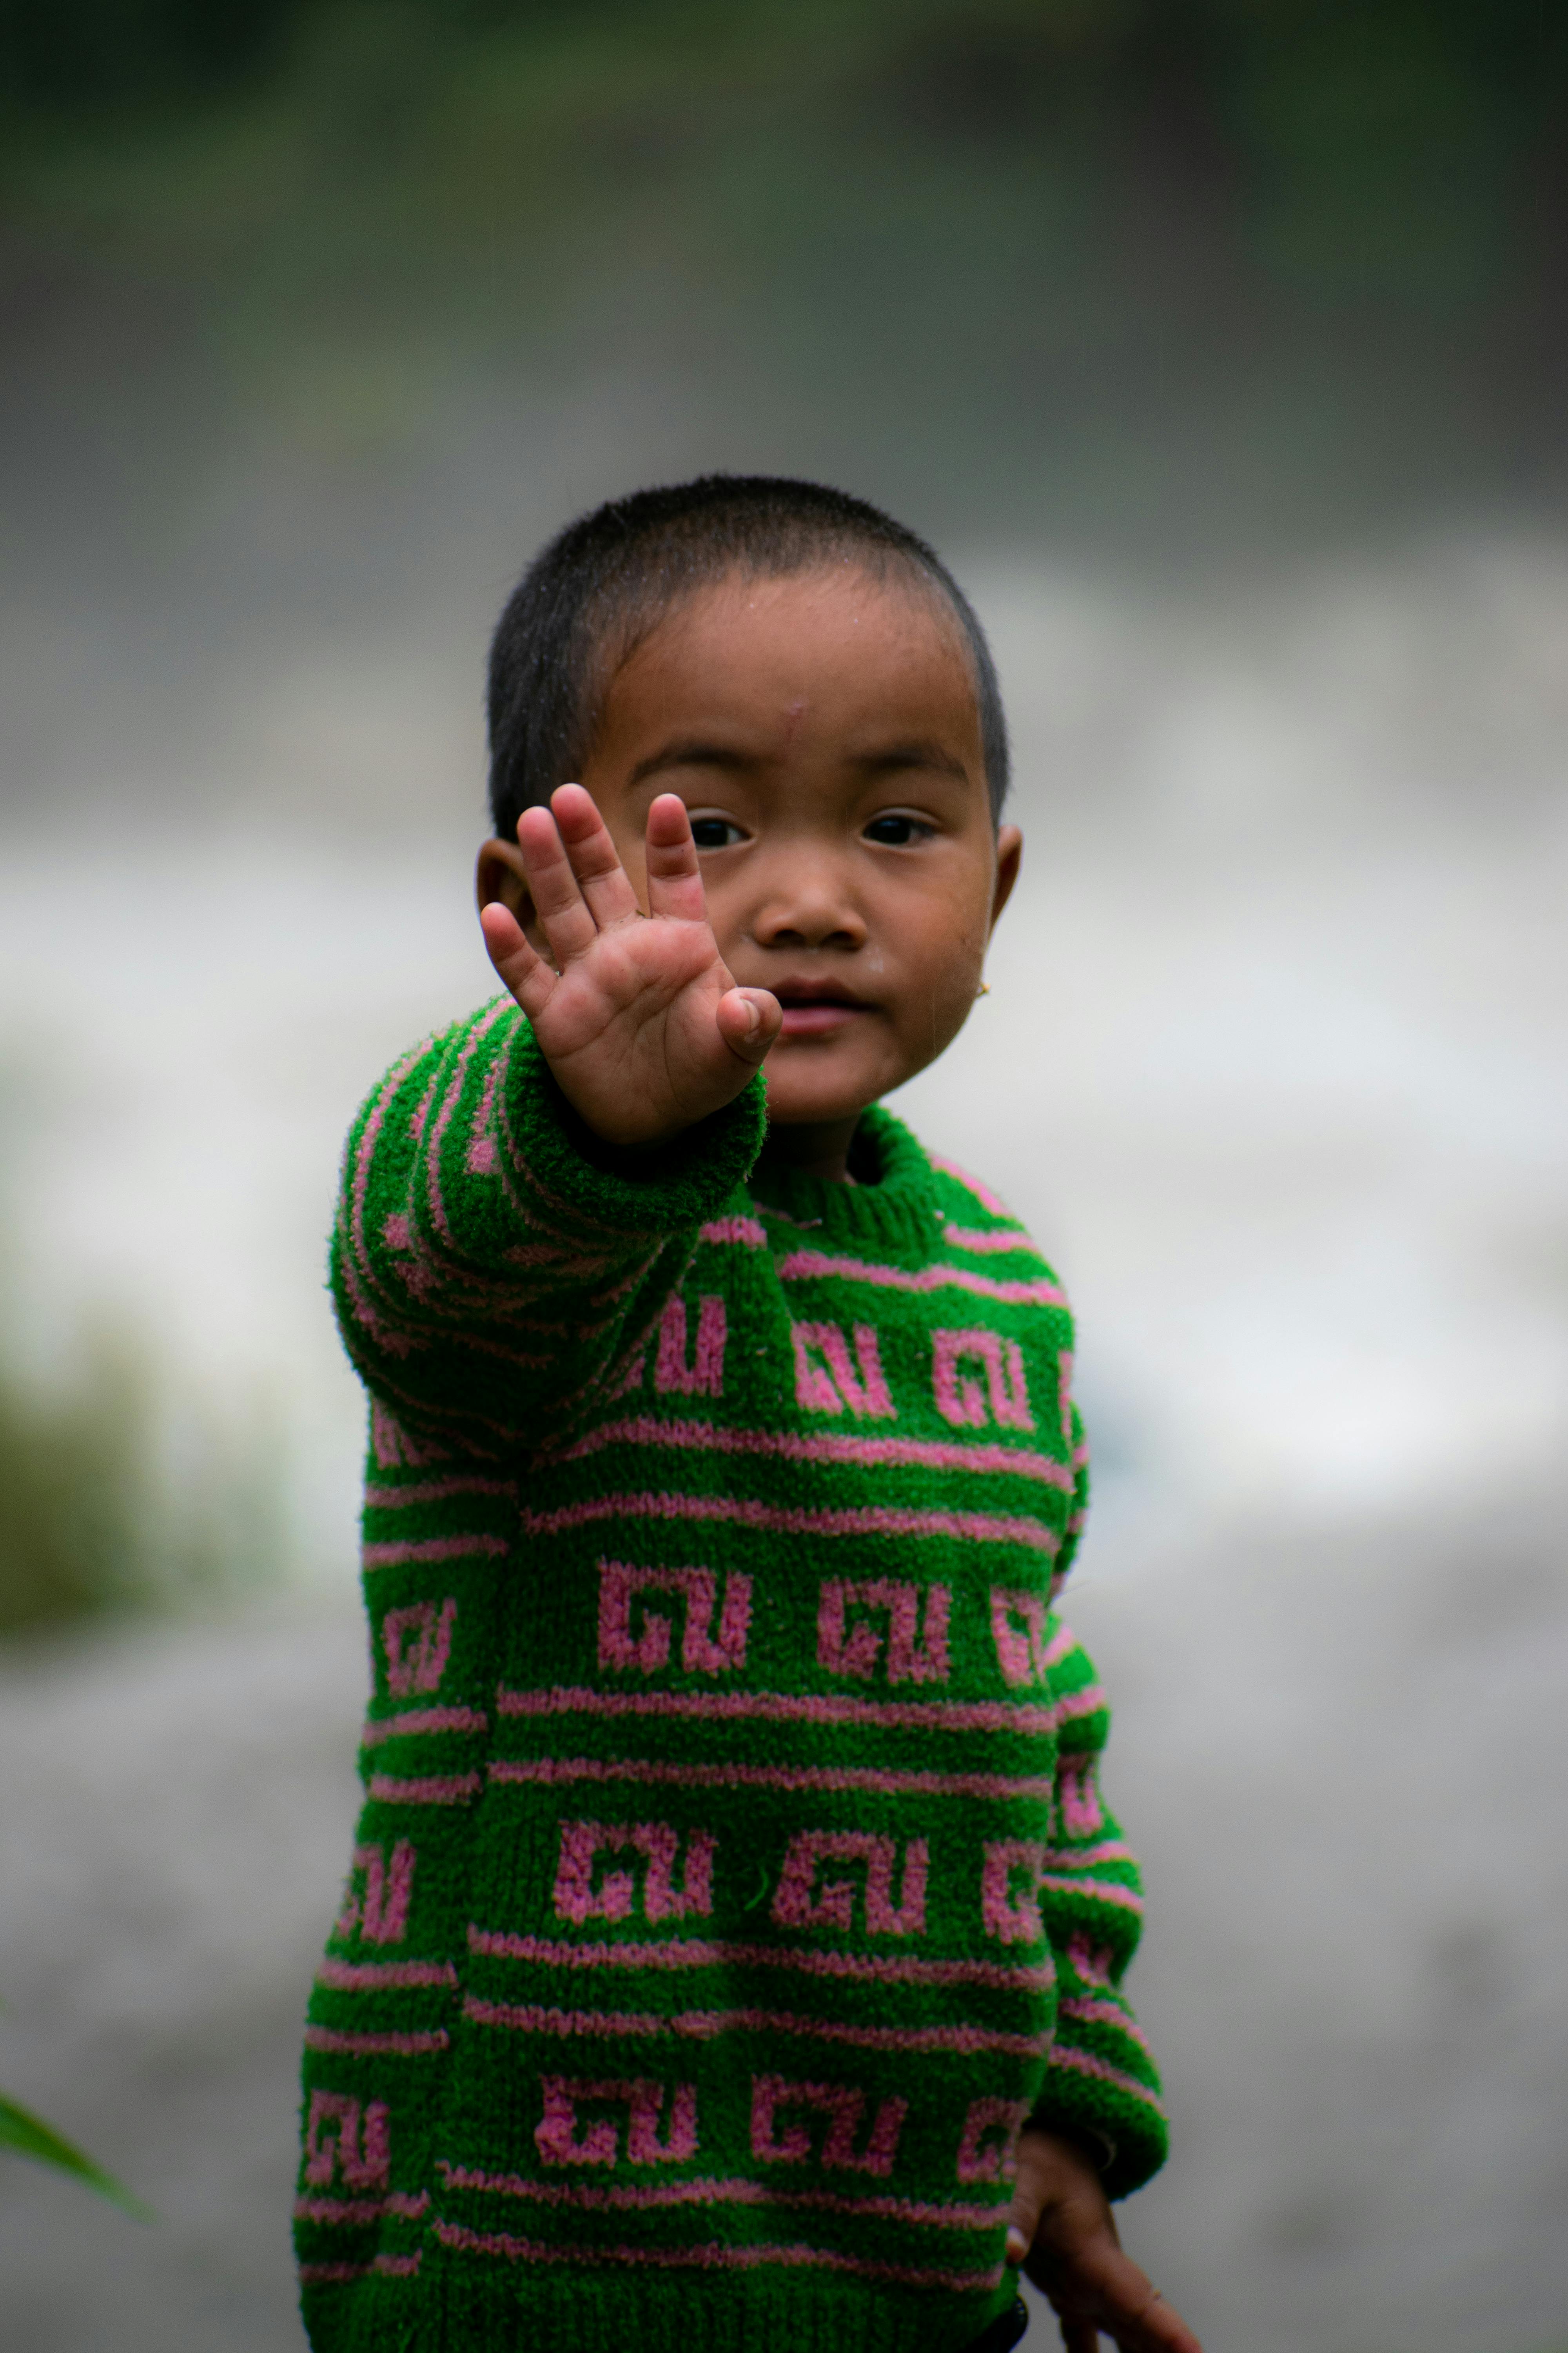
[[400, 1061], [334, 1240], [374, 1694], [310, 1998], [317, 2353], [940, 2353], [1011, 2148], [1164, 2158], [1138, 1868], [1051, 1609], [1063, 1294], [867, 1111], [630, 1165], [501, 1000]]

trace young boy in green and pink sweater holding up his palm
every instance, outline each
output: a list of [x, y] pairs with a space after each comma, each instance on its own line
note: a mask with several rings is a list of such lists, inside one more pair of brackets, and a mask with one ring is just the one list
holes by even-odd
[[[306, 2031], [339, 2348], [1197, 2353], [1121, 1972], [1063, 1294], [879, 1096], [1018, 873], [961, 593], [710, 478], [576, 522], [491, 652], [508, 995], [348, 1146], [374, 1697]], [[571, 779], [571, 781], [569, 781]], [[766, 1085], [762, 1071], [766, 1066]]]

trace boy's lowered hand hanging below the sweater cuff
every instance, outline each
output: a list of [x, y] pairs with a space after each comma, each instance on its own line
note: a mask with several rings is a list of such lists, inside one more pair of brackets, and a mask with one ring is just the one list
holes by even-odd
[[1201, 2353], [1182, 2315], [1121, 2252], [1117, 2221], [1088, 2155], [1056, 2132], [1018, 2141], [1006, 2259], [1048, 2297], [1067, 2353]]

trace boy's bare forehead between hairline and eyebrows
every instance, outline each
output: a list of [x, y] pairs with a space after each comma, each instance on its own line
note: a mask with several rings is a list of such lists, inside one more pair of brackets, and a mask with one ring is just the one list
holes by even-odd
[[731, 572], [663, 614], [614, 671], [604, 722], [686, 720], [811, 732], [912, 727], [964, 736], [980, 713], [969, 645], [947, 600], [917, 576], [823, 565], [785, 576]]

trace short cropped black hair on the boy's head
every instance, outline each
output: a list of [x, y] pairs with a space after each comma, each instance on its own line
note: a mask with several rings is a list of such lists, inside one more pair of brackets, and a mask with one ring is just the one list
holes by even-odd
[[489, 809], [501, 840], [578, 776], [616, 668], [689, 595], [726, 572], [778, 579], [823, 562], [891, 569], [938, 595], [976, 680], [992, 821], [1009, 786], [1006, 715], [985, 631], [936, 548], [823, 482], [705, 473], [578, 515], [534, 558], [489, 647]]

